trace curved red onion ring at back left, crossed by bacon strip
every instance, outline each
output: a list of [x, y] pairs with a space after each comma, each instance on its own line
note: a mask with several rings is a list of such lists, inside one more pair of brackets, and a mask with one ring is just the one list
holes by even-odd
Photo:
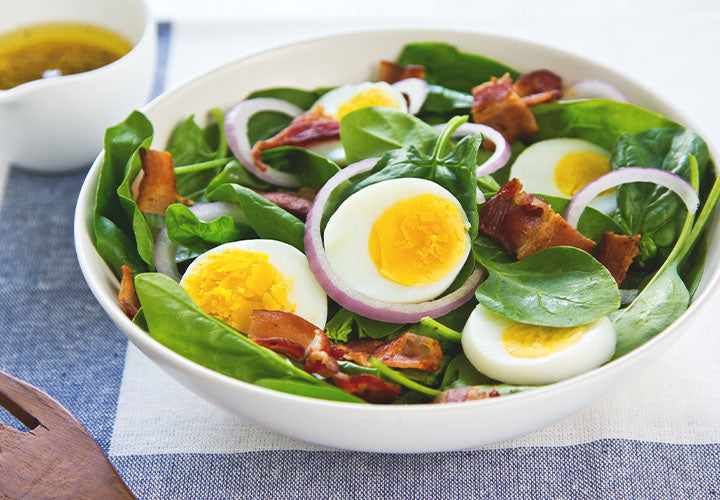
[[225, 135], [228, 146], [238, 161], [251, 174], [276, 186], [298, 187], [301, 184], [298, 176], [272, 167], [263, 171], [253, 161], [252, 145], [247, 136], [248, 123], [250, 118], [262, 111], [284, 113], [292, 118], [297, 118], [303, 113], [303, 110], [294, 104], [272, 97], [258, 97], [242, 101], [225, 115]]

